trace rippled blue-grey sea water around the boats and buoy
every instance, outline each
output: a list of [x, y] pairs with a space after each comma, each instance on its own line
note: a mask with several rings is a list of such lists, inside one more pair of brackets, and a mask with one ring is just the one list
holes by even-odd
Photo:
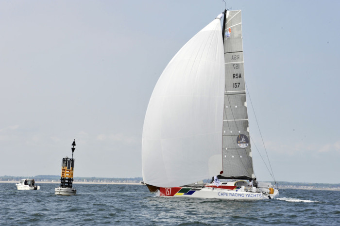
[[281, 189], [274, 200], [159, 197], [142, 185], [0, 183], [0, 225], [340, 225], [340, 191]]

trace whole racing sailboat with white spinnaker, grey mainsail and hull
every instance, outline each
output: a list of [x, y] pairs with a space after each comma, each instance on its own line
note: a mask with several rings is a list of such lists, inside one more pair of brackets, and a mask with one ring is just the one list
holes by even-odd
[[[221, 29], [221, 19], [223, 28]], [[265, 199], [248, 128], [241, 11], [224, 10], [171, 59], [145, 115], [142, 175], [160, 196]]]

